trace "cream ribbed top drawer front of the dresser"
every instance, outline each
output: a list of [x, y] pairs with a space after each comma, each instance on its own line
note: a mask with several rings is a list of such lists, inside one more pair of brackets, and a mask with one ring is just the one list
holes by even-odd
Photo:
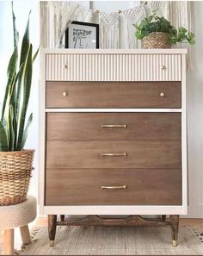
[[181, 81], [181, 54], [46, 54], [46, 80]]

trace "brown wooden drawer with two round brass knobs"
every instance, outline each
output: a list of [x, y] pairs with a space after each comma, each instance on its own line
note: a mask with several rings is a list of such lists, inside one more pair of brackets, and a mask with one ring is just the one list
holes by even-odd
[[181, 82], [46, 82], [46, 108], [181, 108]]

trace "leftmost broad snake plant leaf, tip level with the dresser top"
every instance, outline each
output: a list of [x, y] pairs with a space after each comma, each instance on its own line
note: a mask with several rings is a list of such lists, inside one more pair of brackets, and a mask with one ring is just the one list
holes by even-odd
[[17, 54], [17, 47], [15, 47], [14, 52], [12, 53], [10, 59], [9, 59], [9, 66], [7, 68], [7, 84], [6, 84], [6, 91], [3, 97], [3, 107], [2, 107], [2, 117], [1, 121], [3, 121], [3, 116], [5, 113], [6, 109], [6, 104], [8, 102], [8, 97], [9, 97], [9, 90], [10, 86], [12, 84], [13, 79], [15, 78], [15, 69], [17, 65], [17, 59], [18, 59], [18, 54]]

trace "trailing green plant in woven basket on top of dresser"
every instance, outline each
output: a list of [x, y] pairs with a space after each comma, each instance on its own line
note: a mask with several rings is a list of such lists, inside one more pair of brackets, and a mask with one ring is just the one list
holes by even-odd
[[177, 42], [195, 43], [194, 33], [182, 27], [176, 29], [164, 17], [156, 16], [156, 13], [133, 26], [137, 28], [135, 36], [142, 41], [143, 48], [171, 48]]

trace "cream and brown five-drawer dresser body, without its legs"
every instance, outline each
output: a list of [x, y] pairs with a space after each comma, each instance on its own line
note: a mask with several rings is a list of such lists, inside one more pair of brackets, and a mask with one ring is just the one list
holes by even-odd
[[50, 222], [187, 214], [185, 57], [43, 50], [40, 213]]

